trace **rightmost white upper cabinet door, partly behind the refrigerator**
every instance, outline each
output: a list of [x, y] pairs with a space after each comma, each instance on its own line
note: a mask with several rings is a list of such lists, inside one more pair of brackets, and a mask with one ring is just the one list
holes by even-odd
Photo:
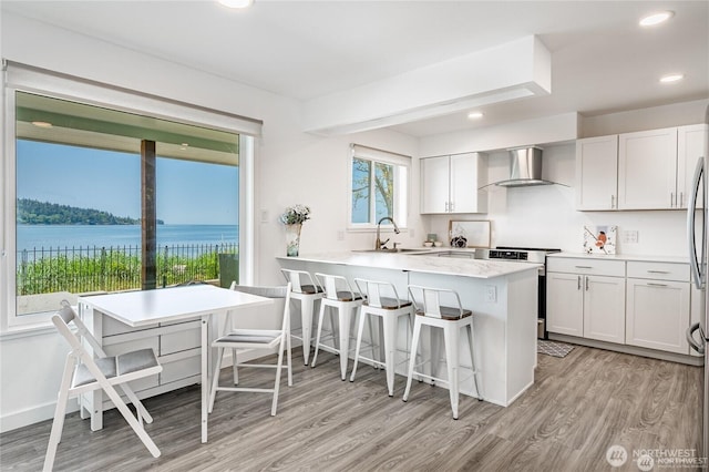
[[[691, 181], [700, 156], [707, 152], [707, 129], [709, 124], [692, 124], [677, 129], [677, 195], [678, 208], [687, 208], [687, 199], [692, 192]], [[701, 201], [701, 194], [698, 195]]]

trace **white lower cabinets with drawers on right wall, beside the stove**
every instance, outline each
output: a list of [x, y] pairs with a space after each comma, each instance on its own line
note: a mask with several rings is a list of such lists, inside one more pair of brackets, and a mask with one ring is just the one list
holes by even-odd
[[689, 355], [689, 277], [681, 263], [549, 258], [547, 330]]

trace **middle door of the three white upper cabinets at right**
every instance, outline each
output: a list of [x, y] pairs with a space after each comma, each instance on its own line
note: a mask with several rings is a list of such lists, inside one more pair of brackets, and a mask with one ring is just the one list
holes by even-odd
[[677, 127], [618, 136], [618, 209], [675, 208]]

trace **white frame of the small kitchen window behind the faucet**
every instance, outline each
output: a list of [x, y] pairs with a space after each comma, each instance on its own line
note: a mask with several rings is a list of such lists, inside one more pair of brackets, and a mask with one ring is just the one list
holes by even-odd
[[[368, 161], [370, 165], [370, 182], [369, 182], [369, 207], [370, 216], [367, 223], [353, 223], [352, 222], [352, 191], [353, 191], [353, 164], [354, 160]], [[392, 165], [394, 166], [394, 196], [393, 196], [393, 215], [392, 218], [397, 222], [397, 226], [405, 230], [409, 225], [409, 212], [411, 208], [411, 156], [393, 153], [390, 151], [378, 150], [374, 147], [364, 146], [361, 144], [350, 144], [349, 156], [349, 170], [348, 170], [348, 198], [347, 198], [347, 228], [348, 230], [374, 230], [377, 229], [377, 213], [376, 213], [376, 191], [374, 191], [374, 173], [377, 164]], [[382, 227], [393, 227], [391, 222], [381, 224]]]

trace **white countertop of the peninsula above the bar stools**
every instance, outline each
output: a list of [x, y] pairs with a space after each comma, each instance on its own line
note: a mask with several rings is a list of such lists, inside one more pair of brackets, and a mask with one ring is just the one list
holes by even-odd
[[[514, 263], [510, 260], [482, 260], [454, 257], [439, 257], [436, 253], [463, 252], [455, 248], [421, 248], [421, 253], [322, 253], [304, 254], [298, 257], [280, 256], [282, 260], [340, 264], [345, 266], [377, 267], [417, 273], [454, 275], [473, 278], [504, 277], [524, 270], [537, 270], [538, 264]], [[471, 252], [466, 249], [465, 252]], [[421, 254], [424, 255], [421, 255]]]

